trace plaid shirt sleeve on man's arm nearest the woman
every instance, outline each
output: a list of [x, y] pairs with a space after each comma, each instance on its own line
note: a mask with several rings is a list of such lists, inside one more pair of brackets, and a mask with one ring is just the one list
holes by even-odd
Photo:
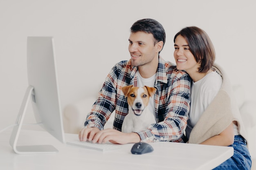
[[183, 141], [182, 136], [184, 135], [186, 121], [189, 117], [190, 83], [189, 75], [184, 72], [180, 78], [178, 78], [178, 75], [175, 75], [168, 79], [166, 90], [159, 91], [158, 118], [161, 117], [159, 115], [161, 110], [165, 108], [165, 112], [162, 115], [163, 121], [160, 120], [159, 123], [137, 132], [141, 141]]

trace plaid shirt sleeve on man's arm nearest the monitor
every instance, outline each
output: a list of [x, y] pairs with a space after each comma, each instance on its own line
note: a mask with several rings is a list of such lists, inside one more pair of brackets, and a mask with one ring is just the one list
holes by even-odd
[[121, 87], [130, 84], [130, 70], [127, 61], [119, 62], [111, 69], [99, 91], [98, 99], [86, 118], [85, 127], [103, 130], [111, 113], [116, 110], [113, 128], [121, 131], [124, 117], [128, 114], [128, 104], [124, 95], [121, 95]]

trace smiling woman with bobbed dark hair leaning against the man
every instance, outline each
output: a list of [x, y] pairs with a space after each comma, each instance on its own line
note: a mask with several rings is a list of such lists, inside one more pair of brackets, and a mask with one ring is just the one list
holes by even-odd
[[174, 37], [177, 69], [193, 80], [186, 136], [189, 143], [234, 148], [234, 155], [215, 169], [249, 170], [252, 165], [246, 132], [234, 103], [231, 84], [213, 63], [215, 50], [207, 33], [191, 26]]

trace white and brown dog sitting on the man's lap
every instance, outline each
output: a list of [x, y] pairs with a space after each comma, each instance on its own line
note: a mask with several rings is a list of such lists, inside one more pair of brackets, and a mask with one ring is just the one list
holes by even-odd
[[129, 113], [124, 118], [122, 132], [136, 132], [155, 124], [155, 113], [148, 109], [149, 97], [156, 92], [154, 87], [135, 87], [133, 85], [122, 87], [124, 96], [127, 97]]

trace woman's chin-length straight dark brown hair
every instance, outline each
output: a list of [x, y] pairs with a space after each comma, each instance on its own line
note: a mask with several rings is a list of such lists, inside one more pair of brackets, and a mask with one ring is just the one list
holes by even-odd
[[175, 35], [174, 43], [178, 35], [186, 39], [196, 62], [200, 64], [199, 72], [209, 71], [215, 61], [215, 50], [207, 33], [196, 26], [185, 27]]

